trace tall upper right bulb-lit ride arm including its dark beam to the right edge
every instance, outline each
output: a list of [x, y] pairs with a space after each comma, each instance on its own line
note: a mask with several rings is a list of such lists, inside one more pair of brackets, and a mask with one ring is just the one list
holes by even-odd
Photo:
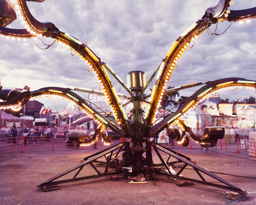
[[[185, 49], [189, 46], [194, 39], [199, 36], [206, 28], [210, 27], [216, 22], [222, 22], [223, 20], [228, 21], [239, 21], [247, 20], [256, 17], [256, 7], [245, 10], [228, 10], [229, 5], [233, 2], [220, 0], [216, 7], [211, 7], [206, 10], [205, 15], [202, 19], [197, 21], [195, 25], [189, 28], [188, 32], [182, 34], [176, 42], [172, 45], [171, 49], [166, 54], [166, 57], [161, 63], [158, 78], [153, 88], [150, 108], [146, 116], [146, 123], [144, 126], [144, 133], [148, 133], [150, 126], [153, 124], [154, 116], [157, 107], [161, 104], [161, 96], [164, 95], [165, 85], [171, 77], [173, 69], [177, 67], [179, 57], [183, 54]], [[157, 68], [156, 70], [158, 70]]]

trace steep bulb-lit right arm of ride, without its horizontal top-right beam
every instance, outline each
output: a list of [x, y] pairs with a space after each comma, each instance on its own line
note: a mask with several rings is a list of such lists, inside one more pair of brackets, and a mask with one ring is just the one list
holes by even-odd
[[188, 32], [184, 32], [172, 45], [171, 49], [167, 52], [164, 60], [160, 65], [159, 75], [156, 78], [154, 85], [150, 107], [146, 114], [146, 122], [144, 126], [144, 134], [148, 134], [150, 127], [153, 124], [156, 109], [161, 104], [161, 96], [164, 95], [165, 85], [171, 77], [173, 69], [177, 67], [178, 59], [181, 57], [185, 49], [188, 48], [191, 42], [199, 36], [203, 31], [216, 22], [216, 18], [221, 16], [229, 7], [230, 0], [220, 0], [216, 7], [206, 10], [203, 18], [192, 25]]

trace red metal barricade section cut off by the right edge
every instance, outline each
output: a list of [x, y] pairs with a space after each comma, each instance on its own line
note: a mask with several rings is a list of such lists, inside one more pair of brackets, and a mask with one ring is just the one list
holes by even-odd
[[256, 157], [256, 144], [253, 138], [237, 137], [237, 151], [235, 153], [241, 153], [241, 151], [248, 153], [252, 157]]

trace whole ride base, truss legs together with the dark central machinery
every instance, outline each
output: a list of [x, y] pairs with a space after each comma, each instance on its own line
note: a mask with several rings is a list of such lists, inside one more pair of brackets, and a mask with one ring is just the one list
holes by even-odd
[[[79, 165], [55, 175], [37, 187], [42, 191], [52, 191], [60, 189], [60, 184], [120, 175], [123, 176], [123, 180], [126, 181], [145, 183], [146, 180], [144, 179], [140, 180], [138, 178], [135, 181], [132, 179], [138, 175], [151, 180], [156, 176], [161, 176], [167, 177], [172, 181], [176, 181], [176, 184], [179, 186], [187, 186], [197, 183], [228, 190], [230, 191], [229, 194], [224, 197], [224, 199], [228, 201], [238, 202], [247, 198], [245, 190], [237, 188], [235, 185], [229, 183], [223, 178], [220, 178], [218, 175], [196, 165], [196, 163], [188, 156], [156, 144], [155, 141], [144, 140], [144, 142], [137, 141], [132, 144], [137, 144], [137, 146], [133, 146], [132, 148], [130, 147], [130, 142], [122, 142], [117, 145], [113, 145], [110, 148], [98, 151], [95, 154], [85, 157], [83, 162]], [[160, 163], [153, 162], [152, 151], [155, 151]], [[163, 153], [167, 155], [167, 159], [165, 159], [166, 156], [163, 156]], [[146, 155], [146, 157], [143, 155]], [[101, 161], [102, 159], [104, 159], [104, 161]], [[96, 163], [103, 165], [103, 172], [97, 168]], [[173, 173], [171, 166], [176, 164], [178, 171], [177, 173]], [[91, 166], [96, 173], [93, 175], [82, 176], [83, 174], [81, 171], [86, 169], [86, 165]], [[193, 168], [199, 179], [188, 178], [182, 175], [184, 169], [188, 166]], [[74, 174], [72, 178], [60, 179], [69, 173]], [[210, 182], [206, 177], [208, 179], [210, 177], [211, 179], [216, 180], [216, 182]]]

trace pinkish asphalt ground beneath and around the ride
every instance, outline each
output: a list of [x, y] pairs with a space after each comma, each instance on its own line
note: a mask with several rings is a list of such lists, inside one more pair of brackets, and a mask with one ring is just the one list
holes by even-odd
[[[61, 184], [59, 190], [48, 192], [37, 188], [45, 180], [78, 165], [85, 156], [100, 149], [101, 146], [83, 150], [62, 147], [54, 151], [38, 148], [27, 149], [25, 153], [0, 154], [0, 204], [256, 204], [256, 158], [247, 153], [234, 153], [236, 145], [228, 145], [228, 153], [219, 148], [173, 150], [191, 157], [197, 165], [246, 190], [248, 197], [241, 202], [224, 200], [227, 190], [196, 183], [181, 187], [176, 185], [177, 181], [166, 177], [155, 177], [153, 181], [148, 179], [143, 184], [129, 184], [118, 176], [104, 177]], [[153, 159], [154, 162], [159, 161], [154, 151]], [[97, 165], [97, 168], [101, 169], [101, 166]], [[176, 170], [175, 167], [173, 169]], [[91, 167], [85, 167], [82, 172], [95, 174]], [[190, 167], [182, 175], [200, 179]], [[208, 177], [206, 180], [215, 182]]]

